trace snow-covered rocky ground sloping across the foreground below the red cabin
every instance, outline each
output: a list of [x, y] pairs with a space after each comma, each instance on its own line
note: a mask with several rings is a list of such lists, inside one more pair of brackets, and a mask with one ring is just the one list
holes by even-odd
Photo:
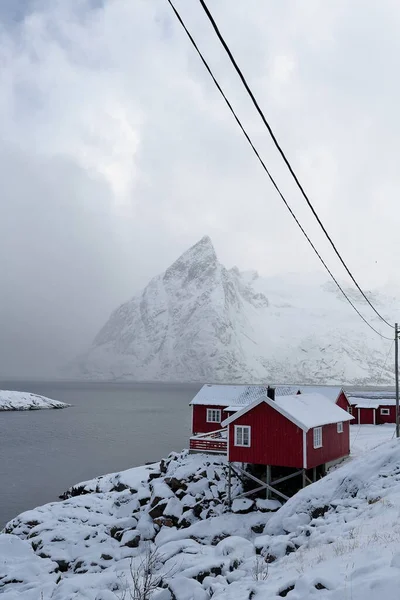
[[397, 600], [400, 444], [351, 434], [359, 456], [279, 509], [227, 513], [225, 459], [186, 452], [74, 486], [0, 535], [0, 596], [128, 600], [147, 562], [153, 600]]

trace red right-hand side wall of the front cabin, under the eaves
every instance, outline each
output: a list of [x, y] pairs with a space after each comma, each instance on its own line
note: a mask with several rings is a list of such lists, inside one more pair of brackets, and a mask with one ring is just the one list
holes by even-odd
[[314, 448], [314, 433], [307, 432], [307, 468], [311, 469], [350, 453], [349, 421], [343, 423], [343, 433], [337, 432], [337, 423], [322, 427], [322, 448]]

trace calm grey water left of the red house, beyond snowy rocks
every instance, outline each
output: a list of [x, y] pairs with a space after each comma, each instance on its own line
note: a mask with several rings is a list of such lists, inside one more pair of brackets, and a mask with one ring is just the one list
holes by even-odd
[[65, 410], [0, 412], [0, 529], [70, 485], [157, 461], [188, 445], [193, 384], [17, 383], [73, 404]]

